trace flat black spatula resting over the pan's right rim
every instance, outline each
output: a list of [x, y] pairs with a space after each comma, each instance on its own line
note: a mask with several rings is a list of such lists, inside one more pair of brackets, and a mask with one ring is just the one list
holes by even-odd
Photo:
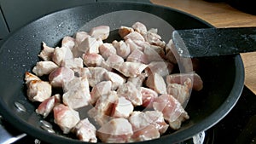
[[177, 30], [172, 40], [183, 57], [237, 55], [256, 51], [256, 27]]

